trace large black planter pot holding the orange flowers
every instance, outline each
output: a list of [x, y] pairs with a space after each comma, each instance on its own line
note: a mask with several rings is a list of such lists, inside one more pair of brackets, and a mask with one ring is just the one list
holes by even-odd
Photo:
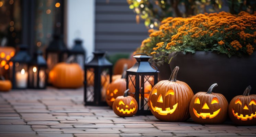
[[[169, 57], [175, 54], [170, 54]], [[230, 102], [237, 95], [242, 95], [248, 85], [251, 94], [256, 94], [256, 54], [244, 57], [227, 57], [215, 52], [197, 51], [196, 53], [179, 52], [170, 63], [171, 70], [179, 66], [177, 79], [186, 82], [194, 94], [206, 92], [217, 83], [213, 92], [223, 94]], [[161, 73], [161, 72], [160, 72]]]

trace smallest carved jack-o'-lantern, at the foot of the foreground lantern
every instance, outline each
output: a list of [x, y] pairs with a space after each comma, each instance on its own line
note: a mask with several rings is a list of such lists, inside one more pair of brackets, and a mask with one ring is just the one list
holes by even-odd
[[138, 103], [132, 96], [128, 96], [128, 90], [124, 91], [124, 96], [119, 96], [113, 103], [113, 111], [120, 117], [133, 116], [138, 110]]

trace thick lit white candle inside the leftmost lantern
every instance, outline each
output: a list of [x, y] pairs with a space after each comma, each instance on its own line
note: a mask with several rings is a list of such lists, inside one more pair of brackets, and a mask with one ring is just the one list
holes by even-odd
[[24, 69], [22, 69], [21, 72], [16, 72], [16, 85], [18, 88], [27, 87], [27, 76], [28, 73], [25, 72]]

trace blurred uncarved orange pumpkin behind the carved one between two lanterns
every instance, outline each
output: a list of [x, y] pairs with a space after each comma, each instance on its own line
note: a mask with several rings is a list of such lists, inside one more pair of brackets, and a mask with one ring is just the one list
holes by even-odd
[[116, 63], [115, 63], [114, 69], [113, 69], [113, 74], [114, 75], [122, 74], [124, 64], [127, 64], [127, 69], [130, 69], [135, 63], [134, 63], [134, 61], [132, 61], [130, 59], [121, 58], [118, 61], [116, 61]]

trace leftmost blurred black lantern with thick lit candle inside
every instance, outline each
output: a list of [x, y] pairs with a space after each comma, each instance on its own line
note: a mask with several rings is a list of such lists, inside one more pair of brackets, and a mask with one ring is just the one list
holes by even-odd
[[13, 65], [10, 67], [10, 78], [12, 81], [13, 89], [27, 88], [27, 79], [29, 76], [28, 63], [31, 61], [30, 55], [27, 53], [27, 46], [20, 45], [20, 51], [17, 52], [11, 62]]

